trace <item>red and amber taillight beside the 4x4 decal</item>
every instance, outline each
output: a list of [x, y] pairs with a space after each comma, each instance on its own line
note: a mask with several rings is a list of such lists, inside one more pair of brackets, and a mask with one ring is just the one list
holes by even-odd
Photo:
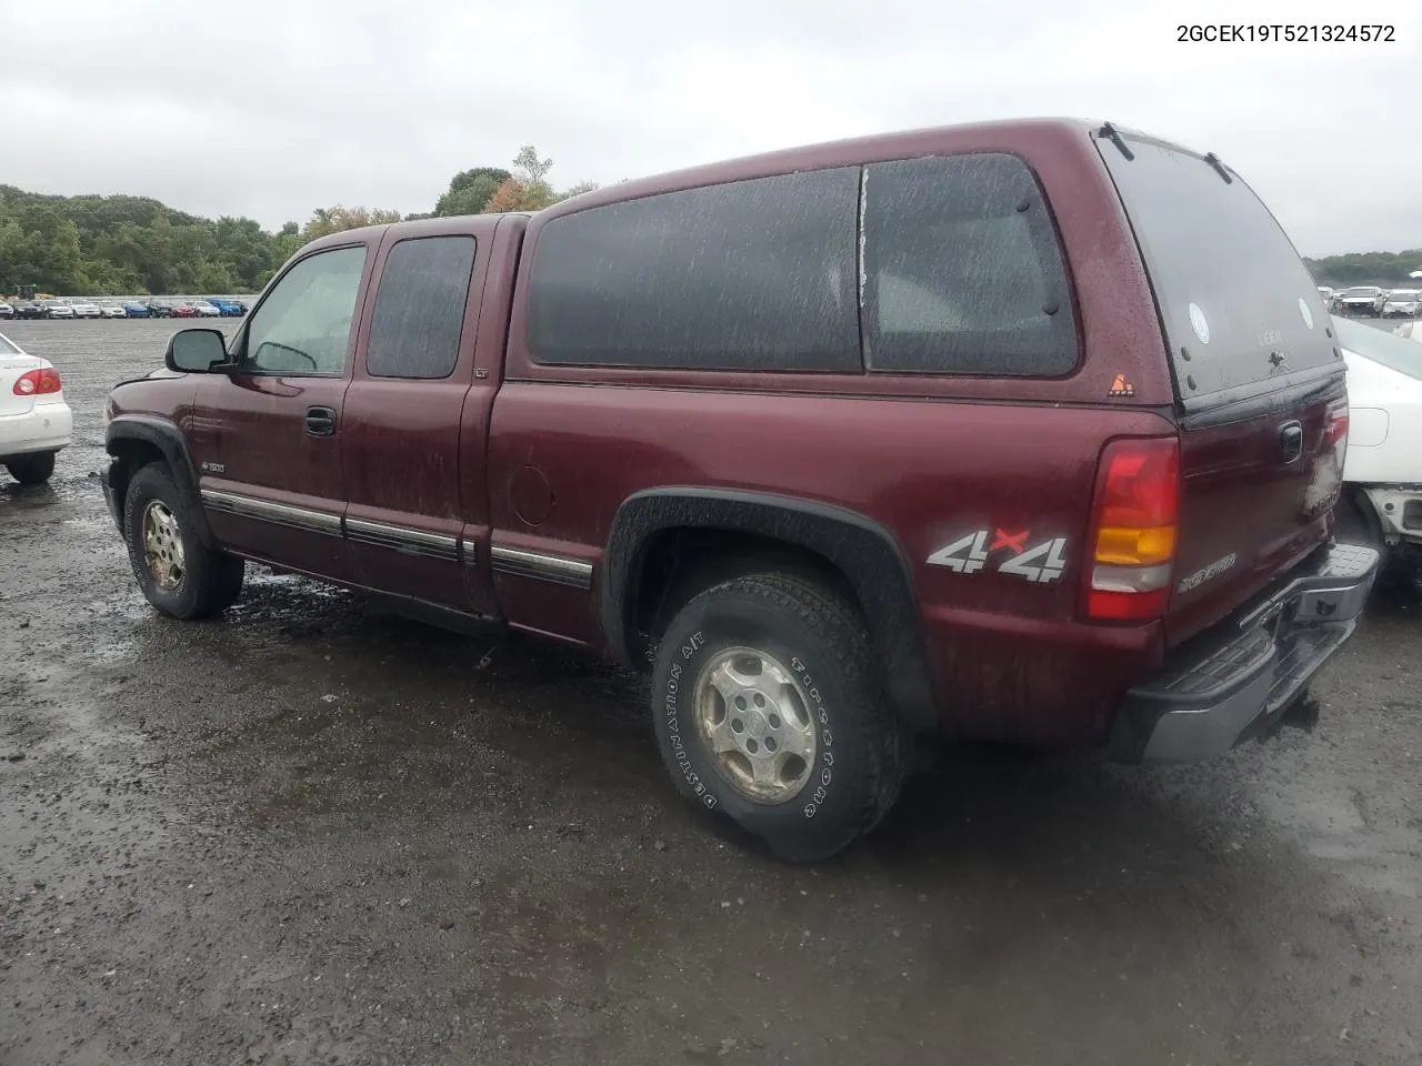
[[1179, 441], [1108, 443], [1092, 500], [1092, 557], [1084, 591], [1088, 618], [1139, 621], [1165, 614], [1179, 519]]

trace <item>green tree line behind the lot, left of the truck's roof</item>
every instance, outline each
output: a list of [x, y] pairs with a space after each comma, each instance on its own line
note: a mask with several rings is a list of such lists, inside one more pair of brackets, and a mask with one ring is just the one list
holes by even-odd
[[539, 210], [597, 188], [556, 190], [552, 159], [525, 145], [512, 169], [476, 166], [449, 179], [434, 209], [337, 203], [270, 233], [253, 220], [205, 219], [148, 196], [48, 196], [0, 185], [0, 294], [256, 293], [306, 242], [358, 226], [447, 215]]

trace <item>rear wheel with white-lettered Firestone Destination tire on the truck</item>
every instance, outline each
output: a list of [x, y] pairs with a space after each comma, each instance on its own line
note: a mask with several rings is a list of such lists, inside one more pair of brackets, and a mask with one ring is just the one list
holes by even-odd
[[697, 596], [653, 674], [678, 792], [786, 861], [849, 847], [899, 799], [909, 756], [873, 661], [859, 611], [812, 581], [755, 574]]

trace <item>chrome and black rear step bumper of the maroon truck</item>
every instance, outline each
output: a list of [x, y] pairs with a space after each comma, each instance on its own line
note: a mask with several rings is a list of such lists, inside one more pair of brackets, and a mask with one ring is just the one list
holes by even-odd
[[1321, 547], [1261, 601], [1176, 650], [1132, 688], [1109, 755], [1197, 762], [1257, 736], [1352, 635], [1376, 569], [1371, 547]]

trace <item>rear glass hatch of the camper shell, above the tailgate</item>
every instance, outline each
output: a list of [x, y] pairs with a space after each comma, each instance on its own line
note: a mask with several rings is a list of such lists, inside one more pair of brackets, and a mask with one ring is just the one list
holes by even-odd
[[1140, 246], [1187, 408], [1341, 368], [1313, 277], [1239, 175], [1140, 136], [1096, 148]]

